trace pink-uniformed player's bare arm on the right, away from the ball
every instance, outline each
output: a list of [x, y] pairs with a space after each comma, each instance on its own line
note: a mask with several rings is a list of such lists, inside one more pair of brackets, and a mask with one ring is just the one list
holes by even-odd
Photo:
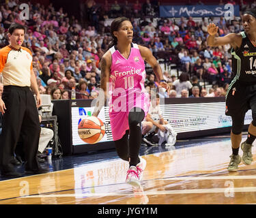
[[[145, 46], [139, 46], [139, 51], [141, 52], [141, 57], [144, 59], [144, 61], [147, 61], [147, 63], [149, 63], [152, 67], [157, 80], [165, 80], [162, 75], [162, 69], [159, 63], [156, 61], [156, 58], [153, 56], [151, 50]], [[160, 82], [160, 86], [168, 89], [167, 82]]]

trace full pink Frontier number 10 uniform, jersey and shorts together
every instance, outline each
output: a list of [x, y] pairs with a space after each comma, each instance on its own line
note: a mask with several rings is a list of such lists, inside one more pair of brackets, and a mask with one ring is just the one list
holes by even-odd
[[131, 44], [128, 59], [119, 50], [110, 48], [112, 55], [109, 78], [109, 116], [113, 140], [124, 136], [129, 129], [128, 113], [132, 108], [141, 108], [147, 115], [150, 106], [149, 95], [145, 90], [145, 64], [137, 44]]

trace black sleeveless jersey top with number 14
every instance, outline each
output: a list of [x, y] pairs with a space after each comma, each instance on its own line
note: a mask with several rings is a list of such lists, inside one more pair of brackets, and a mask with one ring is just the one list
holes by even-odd
[[256, 84], [256, 47], [243, 31], [242, 44], [237, 50], [231, 50], [232, 71], [235, 77], [232, 82], [241, 81]]

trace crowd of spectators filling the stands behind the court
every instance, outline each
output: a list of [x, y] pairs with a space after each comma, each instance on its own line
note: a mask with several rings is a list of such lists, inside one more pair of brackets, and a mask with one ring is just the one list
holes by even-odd
[[[243, 10], [256, 7], [256, 1], [252, 4], [238, 3]], [[158, 1], [146, 0], [143, 4], [125, 1], [121, 4], [115, 0], [109, 5], [106, 0], [99, 6], [91, 0], [87, 1], [88, 17], [84, 26], [62, 7], [55, 10], [52, 3], [47, 6], [28, 3], [29, 20], [20, 20], [19, 4], [18, 0], [1, 3], [0, 47], [8, 44], [7, 31], [12, 22], [27, 26], [23, 46], [33, 54], [33, 71], [40, 93], [49, 94], [52, 99], [70, 98], [72, 87], [76, 87], [78, 99], [98, 96], [99, 61], [111, 41], [109, 26], [104, 25], [104, 20], [115, 16], [130, 18], [134, 27], [134, 43], [150, 48], [158, 60], [164, 56], [167, 65], [175, 59], [180, 74], [164, 72], [170, 91], [162, 97], [225, 96], [233, 76], [230, 46], [210, 48], [206, 44], [207, 26], [212, 18], [202, 18], [200, 22], [192, 17], [157, 18]], [[217, 25], [220, 36], [242, 31], [239, 19], [225, 20], [221, 17]], [[202, 82], [212, 84], [212, 88], [205, 89]], [[158, 82], [150, 71], [147, 72], [145, 88], [147, 91], [158, 88]]]

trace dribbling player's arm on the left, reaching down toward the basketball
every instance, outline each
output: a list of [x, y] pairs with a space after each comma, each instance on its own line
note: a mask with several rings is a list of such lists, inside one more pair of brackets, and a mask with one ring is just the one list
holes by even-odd
[[96, 106], [94, 107], [93, 116], [98, 116], [100, 113], [100, 110], [106, 104], [106, 98], [107, 98], [107, 84], [109, 82], [109, 76], [110, 76], [110, 68], [111, 68], [111, 52], [106, 52], [102, 59], [100, 60], [100, 93], [96, 99]]

